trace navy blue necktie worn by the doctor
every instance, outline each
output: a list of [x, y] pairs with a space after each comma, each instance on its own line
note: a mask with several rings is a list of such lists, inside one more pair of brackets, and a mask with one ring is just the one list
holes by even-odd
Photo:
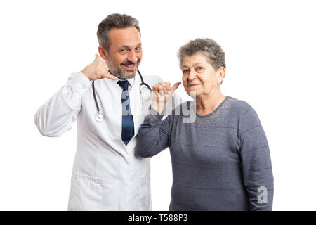
[[134, 136], [134, 122], [131, 108], [129, 108], [129, 82], [127, 80], [118, 81], [117, 84], [123, 89], [121, 93], [121, 140], [125, 146]]

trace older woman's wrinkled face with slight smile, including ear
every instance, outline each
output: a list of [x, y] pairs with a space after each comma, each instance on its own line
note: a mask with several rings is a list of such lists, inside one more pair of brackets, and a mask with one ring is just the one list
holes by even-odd
[[[185, 91], [190, 96], [212, 94], [223, 80], [223, 68], [214, 70], [207, 56], [197, 52], [192, 56], [185, 56], [181, 65], [182, 81]], [[222, 70], [220, 72], [220, 70]], [[224, 69], [225, 73], [225, 69]]]

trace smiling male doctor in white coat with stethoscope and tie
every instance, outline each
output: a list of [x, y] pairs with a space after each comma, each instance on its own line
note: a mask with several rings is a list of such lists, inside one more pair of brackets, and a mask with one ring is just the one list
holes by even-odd
[[[34, 122], [42, 135], [55, 137], [77, 120], [68, 210], [151, 210], [150, 159], [134, 153], [145, 117], [137, 72], [143, 55], [138, 20], [108, 15], [97, 35], [100, 57], [70, 75], [39, 108]], [[143, 79], [150, 87], [162, 82], [153, 76]], [[93, 81], [103, 120], [96, 115]], [[173, 107], [180, 103], [174, 99]]]

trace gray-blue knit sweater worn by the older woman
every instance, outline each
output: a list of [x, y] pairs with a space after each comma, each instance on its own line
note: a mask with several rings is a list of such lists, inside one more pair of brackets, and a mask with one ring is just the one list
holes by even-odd
[[[178, 107], [185, 104], [195, 108], [194, 101]], [[136, 147], [144, 158], [169, 147], [169, 210], [272, 210], [269, 146], [254, 109], [227, 96], [209, 115], [195, 113], [191, 123], [183, 122], [189, 117], [183, 110], [175, 115], [178, 109], [165, 120], [145, 117]]]

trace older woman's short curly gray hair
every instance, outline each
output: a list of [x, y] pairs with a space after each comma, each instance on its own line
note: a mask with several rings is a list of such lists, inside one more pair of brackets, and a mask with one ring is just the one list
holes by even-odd
[[197, 52], [203, 52], [215, 70], [218, 70], [220, 67], [226, 69], [225, 52], [216, 41], [208, 38], [197, 38], [180, 47], [178, 51], [180, 67], [185, 56], [193, 56]]

